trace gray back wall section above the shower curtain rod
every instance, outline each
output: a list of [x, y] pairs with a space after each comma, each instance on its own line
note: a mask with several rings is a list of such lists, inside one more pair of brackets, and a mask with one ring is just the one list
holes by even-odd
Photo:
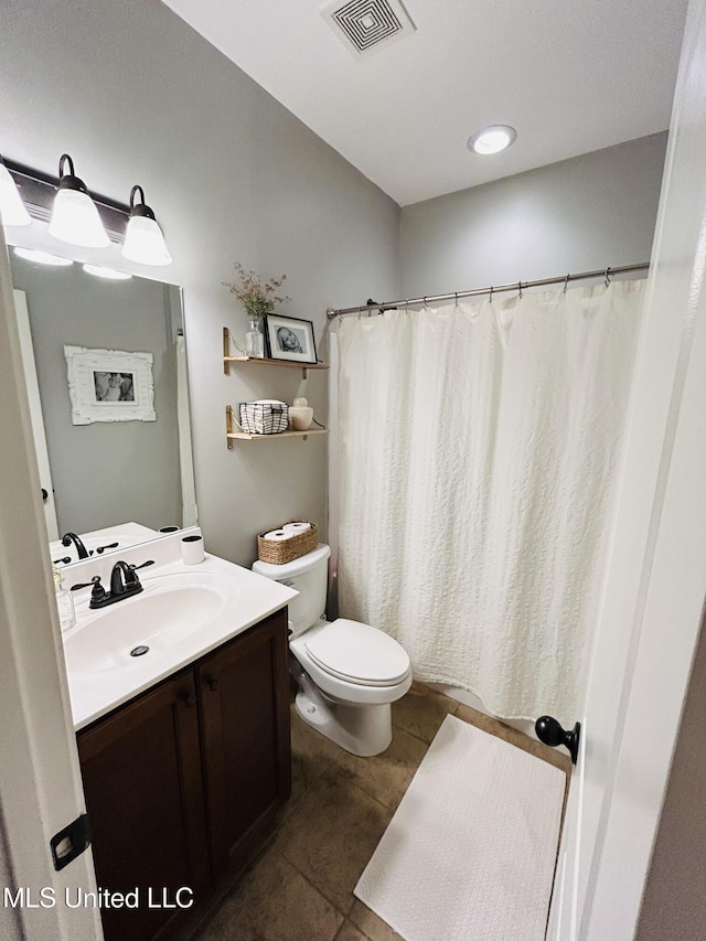
[[402, 210], [402, 297], [649, 261], [666, 133]]

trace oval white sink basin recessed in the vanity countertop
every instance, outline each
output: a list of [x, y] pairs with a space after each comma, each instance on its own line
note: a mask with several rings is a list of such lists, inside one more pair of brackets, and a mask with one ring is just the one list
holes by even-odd
[[87, 597], [76, 606], [77, 624], [64, 637], [69, 674], [120, 671], [160, 656], [227, 616], [239, 595], [237, 585], [216, 573], [141, 581], [140, 595], [107, 608], [90, 610]]

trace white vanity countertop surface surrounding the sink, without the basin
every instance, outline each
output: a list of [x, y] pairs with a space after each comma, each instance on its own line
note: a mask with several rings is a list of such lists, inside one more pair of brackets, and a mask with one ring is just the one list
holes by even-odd
[[[224, 584], [224, 579], [233, 586], [233, 600], [221, 617], [215, 618], [204, 627], [194, 630], [186, 637], [181, 637], [173, 645], [154, 651], [153, 655], [133, 657], [119, 669], [77, 670], [72, 667], [71, 657], [66, 659], [66, 673], [71, 694], [74, 728], [84, 728], [100, 716], [106, 715], [149, 689], [161, 680], [176, 673], [204, 654], [246, 631], [264, 618], [284, 608], [297, 592], [270, 578], [256, 575], [247, 568], [234, 565], [217, 556], [206, 553], [200, 565], [189, 566], [181, 560], [181, 538], [184, 535], [200, 533], [197, 527], [183, 530], [179, 533], [162, 536], [139, 546], [132, 546], [124, 552], [106, 554], [99, 558], [90, 558], [64, 569], [64, 585], [71, 588], [77, 582], [89, 581], [94, 575], [101, 577], [103, 584], [109, 587], [110, 570], [116, 559], [121, 558], [128, 564], [141, 565], [147, 559], [154, 559], [154, 565], [141, 569], [138, 575], [143, 586], [143, 592], [116, 602], [103, 610], [114, 610], [120, 606], [139, 605], [141, 598], [149, 597], [159, 585], [169, 584], [164, 576], [179, 575], [180, 581], [184, 576], [194, 575], [195, 581], [207, 581], [210, 578]], [[89, 631], [92, 624], [87, 618], [94, 618], [98, 612], [88, 609], [90, 589], [83, 588], [73, 592], [77, 623], [63, 634], [64, 642], [77, 631]], [[127, 607], [124, 609], [128, 612]]]

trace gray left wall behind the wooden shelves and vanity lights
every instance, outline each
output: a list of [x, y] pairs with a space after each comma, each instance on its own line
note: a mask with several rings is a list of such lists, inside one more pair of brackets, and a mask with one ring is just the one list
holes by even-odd
[[228, 451], [225, 406], [306, 395], [325, 421], [329, 374], [225, 376], [222, 329], [242, 338], [247, 321], [221, 281], [235, 259], [286, 272], [279, 310], [314, 322], [325, 357], [327, 307], [398, 291], [398, 206], [157, 0], [7, 0], [0, 87], [0, 152], [52, 174], [69, 152], [90, 190], [121, 201], [140, 183], [164, 229], [207, 548], [249, 564], [274, 524], [302, 516], [325, 533], [325, 436]]

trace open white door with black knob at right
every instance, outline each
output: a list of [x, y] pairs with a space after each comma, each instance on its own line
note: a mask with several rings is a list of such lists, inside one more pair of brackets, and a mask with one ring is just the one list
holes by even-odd
[[547, 938], [635, 932], [706, 597], [706, 0], [692, 0]]

